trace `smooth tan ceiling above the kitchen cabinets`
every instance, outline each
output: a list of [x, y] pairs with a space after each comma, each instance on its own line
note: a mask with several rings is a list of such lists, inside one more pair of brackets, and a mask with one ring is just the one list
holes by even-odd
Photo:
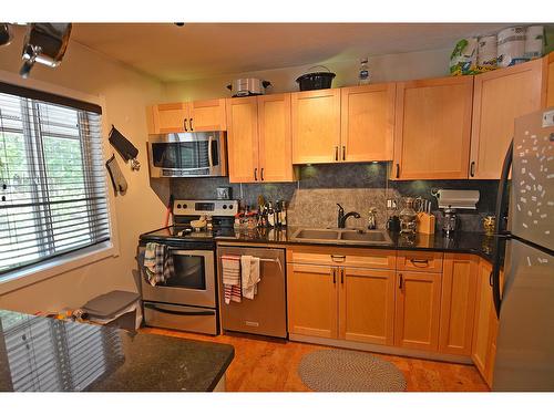
[[453, 48], [485, 23], [75, 23], [72, 39], [164, 82]]

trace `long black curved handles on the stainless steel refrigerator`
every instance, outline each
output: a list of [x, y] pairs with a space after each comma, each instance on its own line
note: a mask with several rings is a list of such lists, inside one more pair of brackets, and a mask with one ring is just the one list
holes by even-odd
[[496, 311], [496, 317], [500, 318], [500, 307], [502, 303], [502, 299], [500, 295], [500, 240], [499, 237], [505, 229], [502, 229], [502, 212], [505, 211], [505, 195], [507, 190], [507, 176], [510, 175], [510, 168], [512, 167], [512, 152], [514, 147], [514, 141], [510, 142], [510, 146], [507, 148], [506, 155], [504, 157], [504, 163], [502, 164], [502, 175], [500, 177], [499, 183], [499, 193], [496, 196], [496, 224], [494, 234], [496, 234], [496, 238], [494, 239], [493, 250], [492, 250], [492, 299], [494, 302], [494, 310]]

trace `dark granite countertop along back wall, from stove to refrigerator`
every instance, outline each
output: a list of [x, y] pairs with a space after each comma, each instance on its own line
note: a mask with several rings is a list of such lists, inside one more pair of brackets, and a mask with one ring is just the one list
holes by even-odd
[[[400, 250], [428, 250], [442, 252], [474, 253], [486, 260], [492, 260], [492, 248], [496, 237], [490, 237], [481, 232], [458, 231], [452, 237], [444, 237], [442, 232], [434, 235], [414, 234], [412, 236], [389, 232], [392, 240], [390, 245], [377, 243], [335, 243], [330, 242], [306, 242], [293, 239], [293, 235], [298, 230], [297, 227], [287, 227], [281, 229], [234, 229], [219, 231], [216, 240], [235, 241], [245, 243], [283, 243], [283, 245], [325, 245], [351, 248], [377, 248], [377, 249], [400, 249]], [[501, 238], [501, 248], [503, 247]], [[501, 249], [502, 251], [502, 249]]]

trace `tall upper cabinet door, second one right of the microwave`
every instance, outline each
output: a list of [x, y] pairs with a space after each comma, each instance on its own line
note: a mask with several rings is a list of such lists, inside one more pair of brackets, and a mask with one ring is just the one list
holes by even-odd
[[258, 96], [259, 178], [294, 181], [290, 94]]

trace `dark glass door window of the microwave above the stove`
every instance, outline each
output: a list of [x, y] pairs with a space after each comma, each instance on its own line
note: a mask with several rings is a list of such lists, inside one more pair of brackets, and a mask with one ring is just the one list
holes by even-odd
[[[218, 143], [212, 142], [212, 163], [219, 164]], [[152, 158], [158, 168], [201, 169], [209, 168], [208, 142], [152, 143]]]

